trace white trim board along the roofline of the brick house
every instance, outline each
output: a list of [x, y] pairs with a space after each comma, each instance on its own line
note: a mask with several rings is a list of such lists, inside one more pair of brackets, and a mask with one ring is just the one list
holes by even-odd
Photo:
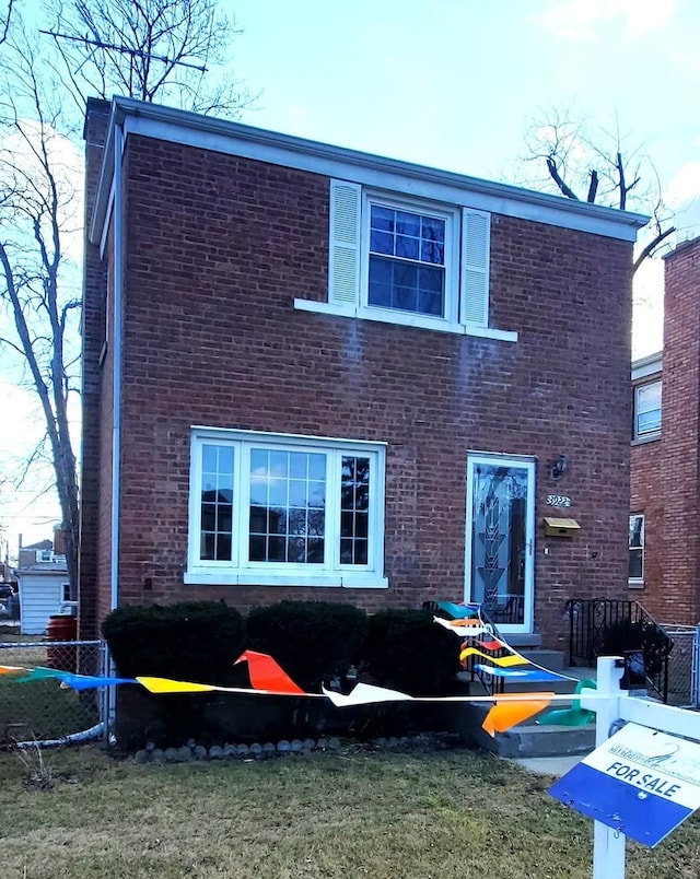
[[[621, 241], [633, 242], [637, 230], [649, 222], [649, 216], [629, 211], [533, 192], [506, 184], [385, 159], [133, 98], [113, 99], [109, 127], [118, 122], [124, 124], [127, 136], [133, 133], [159, 138], [173, 143], [338, 177], [365, 186], [406, 192], [418, 198], [432, 198], [460, 207]], [[105, 146], [107, 167], [108, 153], [113, 150], [114, 143], [108, 137]], [[101, 177], [91, 226], [90, 237], [93, 243], [98, 241], [97, 230], [102, 228], [104, 223], [106, 206], [104, 196], [101, 195], [104, 184], [105, 180]]]

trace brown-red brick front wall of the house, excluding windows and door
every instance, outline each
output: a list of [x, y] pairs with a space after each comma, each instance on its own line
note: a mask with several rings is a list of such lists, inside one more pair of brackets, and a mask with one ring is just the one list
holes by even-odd
[[[137, 137], [128, 163], [122, 600], [460, 599], [469, 449], [539, 461], [547, 644], [567, 598], [626, 593], [628, 244], [494, 215], [491, 323], [515, 344], [310, 314], [293, 298], [326, 296], [327, 178]], [[389, 589], [183, 585], [192, 424], [388, 443]], [[573, 540], [542, 536], [552, 492]]]

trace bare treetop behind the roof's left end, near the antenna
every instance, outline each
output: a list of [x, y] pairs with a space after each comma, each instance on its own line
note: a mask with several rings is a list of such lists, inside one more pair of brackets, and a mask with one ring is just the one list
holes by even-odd
[[223, 116], [250, 102], [231, 72], [241, 32], [217, 0], [69, 0], [47, 33], [81, 109], [113, 93]]

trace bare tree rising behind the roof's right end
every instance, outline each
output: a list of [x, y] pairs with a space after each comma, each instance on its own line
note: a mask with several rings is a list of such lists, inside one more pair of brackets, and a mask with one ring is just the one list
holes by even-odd
[[571, 109], [550, 109], [526, 133], [525, 163], [541, 168], [530, 183], [578, 201], [628, 210], [634, 204], [651, 214], [649, 241], [632, 265], [635, 272], [676, 231], [664, 203], [656, 169], [639, 149], [626, 149], [619, 127], [591, 132]]

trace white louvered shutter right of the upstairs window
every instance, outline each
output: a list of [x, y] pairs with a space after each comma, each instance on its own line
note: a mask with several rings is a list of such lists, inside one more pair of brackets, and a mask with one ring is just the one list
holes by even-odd
[[462, 211], [462, 323], [489, 325], [489, 237], [491, 214]]

